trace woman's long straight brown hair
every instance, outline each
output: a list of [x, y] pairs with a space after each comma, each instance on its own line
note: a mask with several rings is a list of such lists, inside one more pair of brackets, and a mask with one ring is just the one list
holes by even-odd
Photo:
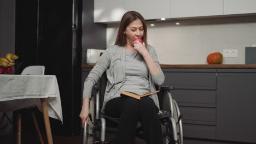
[[143, 16], [137, 13], [136, 11], [128, 11], [123, 15], [119, 25], [118, 35], [117, 35], [117, 39], [115, 40], [115, 45], [119, 45], [119, 46], [126, 45], [127, 41], [126, 41], [126, 35], [124, 34], [124, 31], [126, 31], [126, 27], [130, 25], [131, 22], [137, 19], [141, 20], [143, 24], [144, 34], [143, 34], [142, 40], [147, 46], [147, 23], [144, 20]]

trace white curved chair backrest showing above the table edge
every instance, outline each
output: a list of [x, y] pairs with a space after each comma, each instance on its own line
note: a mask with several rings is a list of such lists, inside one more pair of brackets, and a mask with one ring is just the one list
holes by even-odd
[[32, 65], [22, 70], [21, 75], [44, 75], [43, 65]]

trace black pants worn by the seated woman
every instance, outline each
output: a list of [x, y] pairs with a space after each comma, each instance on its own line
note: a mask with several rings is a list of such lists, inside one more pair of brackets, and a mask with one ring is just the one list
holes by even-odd
[[118, 123], [118, 144], [135, 143], [137, 122], [141, 122], [144, 138], [148, 144], [162, 143], [162, 130], [158, 118], [158, 107], [152, 98], [141, 100], [122, 96], [107, 102], [105, 114], [120, 118]]

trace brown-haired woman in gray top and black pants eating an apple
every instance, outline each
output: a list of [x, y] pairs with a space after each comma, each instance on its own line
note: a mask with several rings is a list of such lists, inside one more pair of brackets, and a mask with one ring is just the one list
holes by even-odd
[[[141, 43], [137, 38], [141, 38]], [[154, 92], [165, 80], [155, 49], [147, 44], [147, 25], [141, 14], [128, 11], [121, 19], [115, 45], [109, 46], [85, 79], [82, 125], [89, 123], [92, 87], [106, 71], [108, 82], [101, 112], [119, 118], [117, 143], [135, 143], [137, 122], [141, 122], [147, 143], [162, 143], [157, 94], [141, 100], [121, 95]]]

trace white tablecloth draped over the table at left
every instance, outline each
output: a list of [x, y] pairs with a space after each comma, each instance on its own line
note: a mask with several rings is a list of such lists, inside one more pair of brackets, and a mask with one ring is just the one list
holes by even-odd
[[37, 106], [40, 98], [48, 100], [49, 117], [62, 121], [59, 86], [55, 75], [1, 75], [0, 111], [14, 111]]

